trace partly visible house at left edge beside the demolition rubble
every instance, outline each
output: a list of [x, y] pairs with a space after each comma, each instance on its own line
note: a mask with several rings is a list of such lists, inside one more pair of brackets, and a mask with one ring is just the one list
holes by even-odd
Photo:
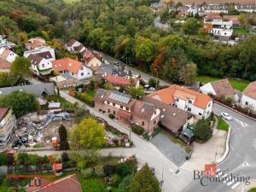
[[16, 118], [9, 108], [0, 108], [0, 146], [6, 145], [16, 128]]

